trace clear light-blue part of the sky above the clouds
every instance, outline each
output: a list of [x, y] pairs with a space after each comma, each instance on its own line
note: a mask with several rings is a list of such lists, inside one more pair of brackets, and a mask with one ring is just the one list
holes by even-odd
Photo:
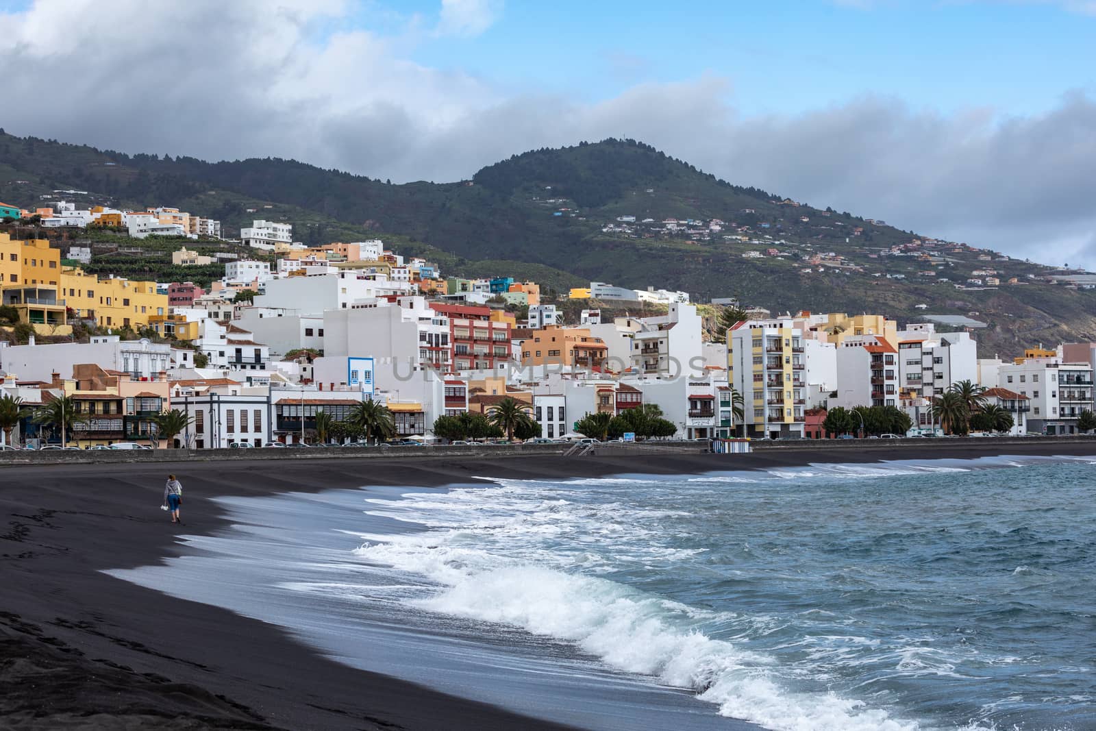
[[[398, 7], [436, 13], [433, 2]], [[867, 93], [1027, 114], [1068, 90], [1096, 92], [1096, 15], [1039, 2], [527, 2], [477, 37], [437, 39], [412, 57], [591, 101], [709, 73], [731, 82], [743, 114]]]

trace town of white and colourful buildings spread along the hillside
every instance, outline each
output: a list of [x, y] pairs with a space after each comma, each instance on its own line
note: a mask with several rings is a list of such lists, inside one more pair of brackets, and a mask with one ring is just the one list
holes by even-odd
[[[309, 247], [279, 221], [254, 220], [227, 239], [219, 221], [171, 207], [0, 205], [3, 218], [4, 448], [1096, 429], [1096, 343], [1029, 343], [979, 357], [984, 322], [927, 307], [898, 322], [886, 312], [780, 315], [733, 298], [697, 304], [658, 283], [557, 293], [506, 272], [445, 276], [379, 239]], [[786, 241], [741, 226], [724, 231], [720, 220], [621, 216], [606, 229], [682, 226], [758, 247], [743, 256], [848, 265], [826, 252], [788, 253]], [[158, 242], [137, 253], [155, 251], [158, 271], [179, 276], [103, 271], [121, 269], [128, 239]], [[934, 276], [956, 245], [915, 239], [878, 253], [907, 256]], [[987, 254], [978, 260], [955, 285], [1023, 284], [1002, 281]], [[210, 271], [218, 276], [186, 276]], [[507, 411], [520, 418], [499, 418]]]

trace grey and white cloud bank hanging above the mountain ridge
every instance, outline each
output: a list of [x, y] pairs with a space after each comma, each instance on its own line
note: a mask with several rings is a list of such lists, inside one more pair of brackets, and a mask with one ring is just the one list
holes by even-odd
[[1096, 103], [1085, 95], [1026, 117], [945, 116], [878, 95], [747, 117], [731, 80], [715, 76], [587, 102], [409, 60], [415, 44], [476, 36], [500, 12], [491, 0], [444, 0], [433, 23], [392, 36], [351, 25], [338, 0], [39, 0], [0, 14], [11, 84], [0, 126], [128, 152], [292, 157], [393, 181], [459, 180], [530, 148], [632, 137], [812, 205], [1096, 266]]

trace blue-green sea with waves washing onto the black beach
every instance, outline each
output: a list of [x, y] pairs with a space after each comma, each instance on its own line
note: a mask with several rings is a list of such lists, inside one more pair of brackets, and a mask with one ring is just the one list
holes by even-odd
[[583, 729], [1081, 731], [1094, 465], [308, 486], [109, 573]]

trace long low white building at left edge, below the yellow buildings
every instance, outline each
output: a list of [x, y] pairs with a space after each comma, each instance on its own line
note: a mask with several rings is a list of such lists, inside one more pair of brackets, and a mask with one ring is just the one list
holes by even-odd
[[104, 370], [121, 370], [134, 378], [156, 378], [171, 367], [171, 345], [146, 338], [122, 340], [118, 335], [92, 335], [88, 343], [4, 345], [0, 343], [0, 369], [20, 380], [50, 382], [53, 374], [72, 376], [72, 366], [94, 363]]

